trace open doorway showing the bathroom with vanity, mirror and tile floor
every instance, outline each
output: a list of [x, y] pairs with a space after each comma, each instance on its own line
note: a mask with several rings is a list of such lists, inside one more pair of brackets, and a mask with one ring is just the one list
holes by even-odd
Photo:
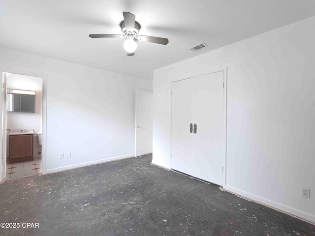
[[2, 72], [2, 179], [42, 173], [43, 77]]

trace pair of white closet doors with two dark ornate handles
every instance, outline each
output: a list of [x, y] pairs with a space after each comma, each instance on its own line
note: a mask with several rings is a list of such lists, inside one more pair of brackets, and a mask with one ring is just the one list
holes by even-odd
[[172, 169], [222, 185], [223, 72], [174, 82], [172, 89]]

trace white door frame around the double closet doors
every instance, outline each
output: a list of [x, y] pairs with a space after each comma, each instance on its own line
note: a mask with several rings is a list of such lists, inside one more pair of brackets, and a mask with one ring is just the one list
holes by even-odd
[[[170, 81], [170, 101], [171, 101], [171, 105], [170, 105], [170, 119], [169, 119], [169, 127], [170, 127], [170, 130], [169, 130], [169, 142], [170, 142], [170, 153], [169, 153], [169, 167], [170, 169], [172, 169], [172, 105], [173, 105], [173, 96], [172, 96], [172, 87], [173, 87], [173, 82], [177, 82], [177, 81], [181, 81], [181, 80], [187, 80], [187, 79], [191, 79], [193, 77], [197, 77], [197, 76], [201, 76], [201, 75], [206, 75], [206, 74], [213, 74], [213, 73], [217, 73], [217, 72], [223, 72], [223, 150], [222, 150], [222, 155], [223, 155], [223, 163], [222, 163], [222, 167], [223, 167], [223, 170], [222, 170], [222, 176], [223, 176], [223, 179], [222, 179], [222, 187], [225, 188], [225, 185], [226, 185], [226, 109], [227, 109], [227, 67], [221, 67], [221, 68], [218, 68], [218, 69], [213, 69], [213, 70], [207, 70], [207, 71], [203, 71], [203, 72], [199, 72], [199, 73], [192, 73], [192, 74], [189, 74], [189, 75], [186, 75], [186, 76], [183, 76], [183, 77], [180, 77], [180, 78], [176, 78], [176, 79], [173, 79]], [[222, 85], [222, 86], [223, 86]]]

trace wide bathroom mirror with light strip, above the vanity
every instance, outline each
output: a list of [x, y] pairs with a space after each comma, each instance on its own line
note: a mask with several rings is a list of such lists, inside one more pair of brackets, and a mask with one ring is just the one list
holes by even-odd
[[36, 91], [7, 89], [7, 112], [35, 112]]

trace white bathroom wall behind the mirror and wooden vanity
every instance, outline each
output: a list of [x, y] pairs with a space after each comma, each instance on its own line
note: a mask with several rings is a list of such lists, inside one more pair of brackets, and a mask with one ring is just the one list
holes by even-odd
[[[38, 154], [40, 146], [38, 145], [37, 133], [42, 132], [42, 78], [26, 76], [19, 74], [6, 74], [7, 89], [22, 89], [36, 91], [35, 113], [7, 112], [7, 129], [33, 129], [33, 152], [34, 157]], [[7, 132], [7, 141], [9, 141], [9, 132]], [[7, 158], [9, 157], [9, 142], [6, 149]]]

